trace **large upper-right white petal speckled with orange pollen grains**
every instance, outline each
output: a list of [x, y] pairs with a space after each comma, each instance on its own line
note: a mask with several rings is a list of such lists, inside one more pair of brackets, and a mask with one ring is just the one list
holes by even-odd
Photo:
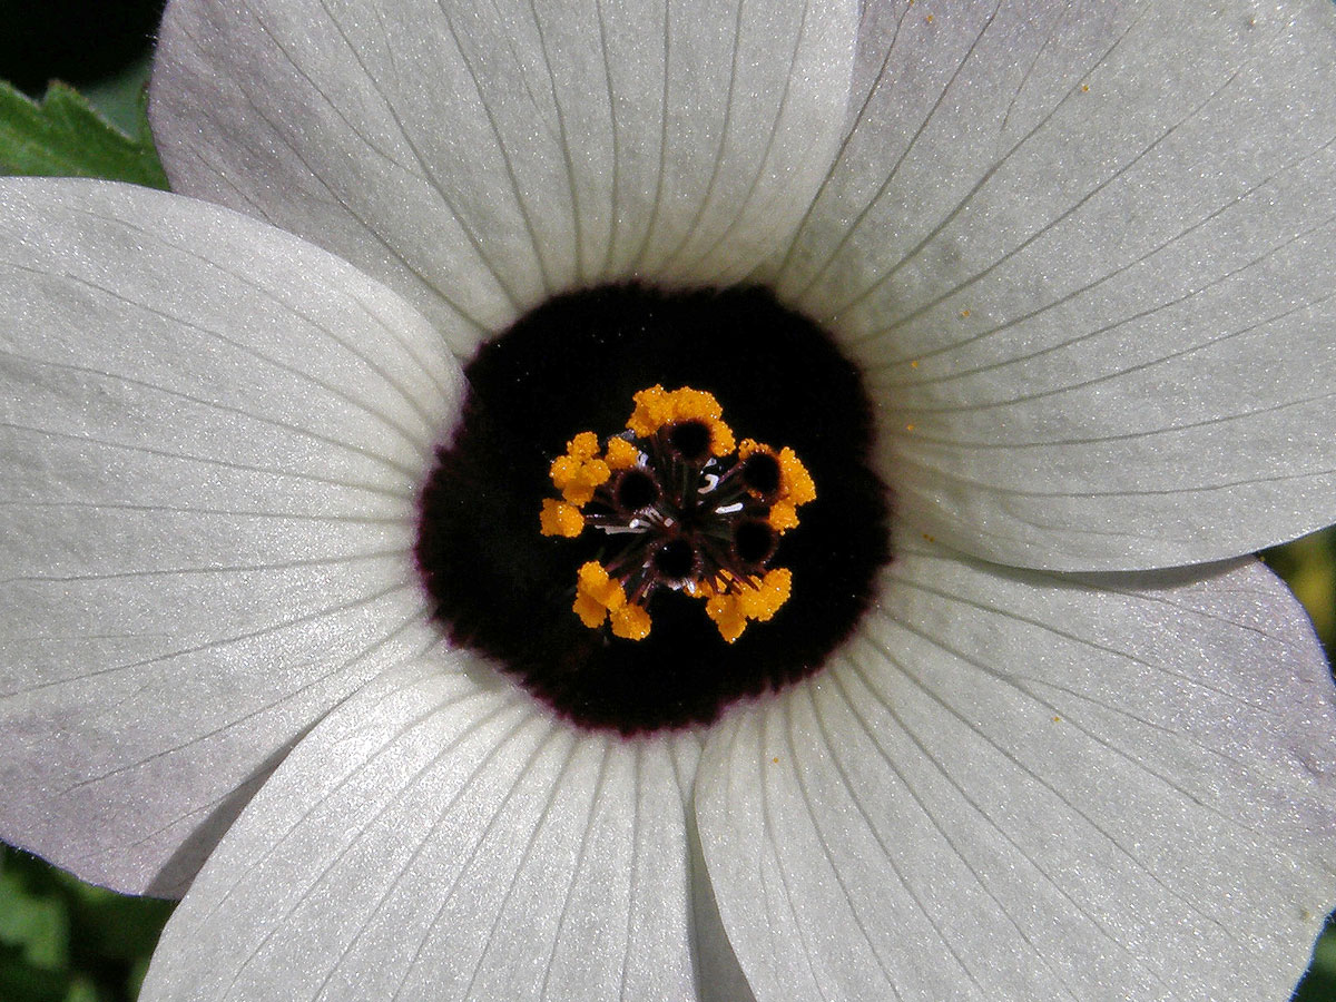
[[1331, 3], [871, 4], [878, 72], [779, 285], [906, 517], [1077, 570], [1336, 518]]

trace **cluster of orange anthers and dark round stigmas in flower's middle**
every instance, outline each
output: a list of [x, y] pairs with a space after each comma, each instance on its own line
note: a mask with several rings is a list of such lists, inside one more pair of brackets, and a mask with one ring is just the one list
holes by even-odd
[[560, 497], [544, 498], [541, 533], [607, 537], [577, 572], [572, 612], [643, 640], [651, 603], [677, 593], [732, 644], [788, 601], [792, 574], [771, 558], [816, 485], [792, 449], [736, 441], [711, 393], [652, 386], [633, 403], [624, 430], [580, 432], [549, 469]]

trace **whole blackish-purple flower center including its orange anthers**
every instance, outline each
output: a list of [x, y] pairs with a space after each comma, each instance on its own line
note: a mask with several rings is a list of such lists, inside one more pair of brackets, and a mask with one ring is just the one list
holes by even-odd
[[860, 375], [767, 290], [556, 297], [465, 374], [422, 580], [453, 643], [561, 716], [708, 724], [818, 671], [871, 601], [888, 509]]

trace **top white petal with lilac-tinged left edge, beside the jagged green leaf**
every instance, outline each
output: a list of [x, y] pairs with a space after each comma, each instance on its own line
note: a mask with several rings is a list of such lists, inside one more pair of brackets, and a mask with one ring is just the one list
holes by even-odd
[[852, 0], [174, 0], [154, 132], [176, 190], [480, 337], [580, 283], [745, 275], [830, 166], [855, 31]]

